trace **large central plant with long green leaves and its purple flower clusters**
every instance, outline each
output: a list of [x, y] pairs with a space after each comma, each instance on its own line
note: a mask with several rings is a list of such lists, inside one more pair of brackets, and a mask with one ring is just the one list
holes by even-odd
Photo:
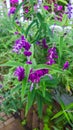
[[[12, 11], [15, 13], [13, 20], [25, 2], [19, 5], [16, 12], [15, 9]], [[53, 90], [59, 90], [61, 86], [59, 91], [73, 91], [73, 44], [72, 30], [66, 28], [70, 25], [70, 12], [64, 13], [58, 21], [48, 11], [46, 3], [37, 11], [33, 8], [35, 4], [36, 1], [29, 3], [27, 22], [19, 25], [13, 21], [17, 39], [12, 45], [13, 57], [5, 65], [11, 66], [12, 84], [21, 86], [20, 99], [26, 103], [26, 114], [33, 104], [37, 104], [41, 116], [43, 104], [53, 99]], [[62, 9], [57, 4], [56, 7], [58, 11]]]

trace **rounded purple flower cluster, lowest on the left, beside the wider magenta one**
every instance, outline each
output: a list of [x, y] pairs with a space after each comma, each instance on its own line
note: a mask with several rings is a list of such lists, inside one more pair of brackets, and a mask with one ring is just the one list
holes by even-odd
[[19, 66], [16, 68], [15, 72], [14, 72], [14, 76], [18, 77], [19, 81], [22, 81], [25, 77], [25, 70], [23, 67]]

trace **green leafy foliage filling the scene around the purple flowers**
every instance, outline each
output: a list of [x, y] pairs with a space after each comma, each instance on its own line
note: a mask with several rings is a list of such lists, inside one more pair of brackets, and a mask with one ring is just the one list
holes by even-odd
[[[59, 0], [60, 3], [67, 4], [64, 0]], [[3, 88], [0, 90], [0, 94], [3, 96], [4, 101], [0, 106], [1, 111], [5, 113], [18, 112], [22, 107], [25, 107], [25, 115], [27, 115], [30, 108], [37, 104], [38, 115], [42, 118], [42, 111], [44, 104], [52, 104], [53, 92], [55, 89], [59, 91], [59, 87], [64, 89], [64, 92], [72, 94], [73, 91], [73, 30], [69, 33], [67, 32], [56, 32], [50, 29], [52, 24], [69, 26], [70, 21], [67, 18], [67, 15], [63, 15], [62, 21], [55, 21], [54, 16], [49, 12], [43, 9], [45, 2], [40, 7], [40, 11], [34, 11], [34, 5], [36, 1], [24, 1], [16, 9], [15, 14], [10, 17], [4, 13], [2, 19], [0, 19], [0, 67], [4, 69], [7, 68], [7, 73], [2, 72], [4, 76]], [[29, 12], [24, 14], [24, 17], [28, 19], [27, 23], [20, 23], [18, 26], [15, 22], [15, 18], [19, 16], [20, 8], [25, 5], [30, 7]], [[53, 5], [50, 5], [50, 8], [53, 8]], [[30, 23], [29, 23], [30, 21]], [[14, 33], [18, 31], [18, 35]], [[66, 34], [65, 34], [66, 33]], [[24, 35], [27, 41], [31, 43], [32, 56], [30, 60], [33, 64], [26, 64], [26, 57], [23, 55], [23, 51], [20, 54], [12, 53], [12, 47], [16, 39], [20, 38], [21, 35]], [[56, 64], [46, 65], [48, 49], [43, 48], [42, 39], [46, 39], [48, 49], [56, 47], [58, 59], [55, 59]], [[37, 44], [40, 42], [40, 45]], [[63, 70], [64, 63], [69, 62], [69, 68]], [[14, 70], [16, 67], [22, 66], [25, 69], [25, 78], [22, 82], [14, 77]], [[34, 88], [30, 91], [32, 85], [31, 82], [28, 82], [28, 77], [30, 70], [33, 69], [48, 69], [49, 73], [41, 77], [40, 82], [34, 83]], [[52, 79], [50, 78], [50, 75]], [[2, 81], [1, 81], [2, 82]], [[61, 90], [63, 93], [63, 91]], [[18, 100], [17, 100], [18, 99]], [[59, 98], [60, 99], [60, 98]], [[61, 100], [59, 100], [61, 110], [58, 111], [55, 115], [52, 109], [49, 107], [47, 109], [47, 116], [44, 117], [44, 130], [50, 130], [50, 122], [55, 120], [56, 126], [52, 125], [54, 130], [63, 129], [61, 125], [62, 122], [64, 125], [66, 123], [70, 124], [73, 127], [73, 103], [65, 105]], [[58, 120], [57, 120], [58, 119]], [[26, 121], [22, 122], [22, 125], [25, 125]], [[59, 126], [60, 125], [60, 126]], [[37, 130], [37, 129], [35, 129]]]

